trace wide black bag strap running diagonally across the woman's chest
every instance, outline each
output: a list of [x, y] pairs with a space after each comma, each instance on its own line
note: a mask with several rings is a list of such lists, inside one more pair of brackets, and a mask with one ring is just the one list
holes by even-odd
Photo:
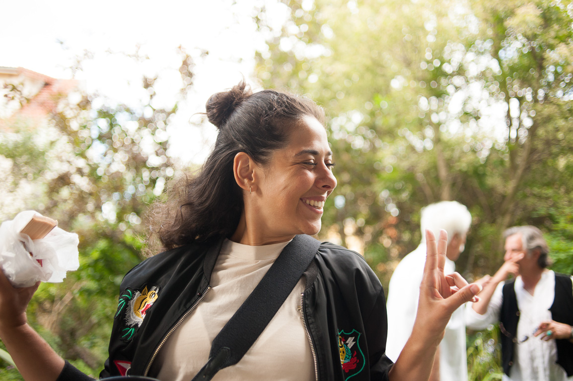
[[257, 287], [213, 339], [209, 360], [191, 381], [210, 380], [219, 370], [243, 358], [295, 288], [319, 247], [320, 242], [312, 237], [297, 235], [282, 249]]

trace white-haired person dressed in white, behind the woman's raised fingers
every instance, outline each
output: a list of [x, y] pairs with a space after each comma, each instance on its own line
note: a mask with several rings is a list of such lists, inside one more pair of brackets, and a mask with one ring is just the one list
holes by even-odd
[[[432, 231], [436, 237], [441, 229], [448, 233], [444, 273], [449, 274], [454, 272], [456, 267], [454, 261], [464, 251], [466, 235], [471, 224], [472, 215], [468, 208], [456, 201], [441, 201], [422, 208], [420, 221], [422, 242], [400, 261], [388, 287], [386, 355], [391, 360], [396, 361], [414, 326], [419, 287], [426, 262], [426, 229]], [[464, 307], [460, 307], [453, 313], [446, 327], [444, 339], [439, 344], [430, 380], [467, 379]]]

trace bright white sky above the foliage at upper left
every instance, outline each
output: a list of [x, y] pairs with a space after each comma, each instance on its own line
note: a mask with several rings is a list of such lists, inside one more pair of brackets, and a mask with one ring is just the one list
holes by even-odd
[[[180, 83], [178, 46], [196, 56], [194, 91], [171, 129], [171, 146], [183, 161], [201, 162], [214, 141], [211, 125], [195, 128], [189, 121], [205, 110], [215, 92], [230, 88], [242, 77], [251, 79], [254, 51], [264, 47], [256, 33], [254, 5], [264, 3], [270, 22], [284, 22], [284, 6], [274, 0], [27, 0], [2, 3], [0, 66], [34, 70], [54, 78], [71, 78], [74, 57], [93, 53], [76, 74], [88, 92], [99, 92], [117, 102], [137, 105], [142, 75], [159, 73], [155, 86], [166, 104], [174, 102]], [[139, 53], [150, 60], [135, 64], [121, 54]], [[193, 54], [195, 53], [195, 54]], [[205, 144], [207, 142], [207, 144]]]

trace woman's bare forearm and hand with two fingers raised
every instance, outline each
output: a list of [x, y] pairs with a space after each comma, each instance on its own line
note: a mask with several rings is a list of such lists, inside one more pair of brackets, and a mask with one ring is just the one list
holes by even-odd
[[433, 233], [426, 231], [426, 242], [426, 265], [414, 329], [390, 370], [391, 381], [429, 379], [452, 313], [466, 301], [477, 300], [475, 295], [481, 290], [480, 285], [468, 284], [457, 273], [444, 275], [448, 244], [445, 231], [440, 232], [438, 242]]

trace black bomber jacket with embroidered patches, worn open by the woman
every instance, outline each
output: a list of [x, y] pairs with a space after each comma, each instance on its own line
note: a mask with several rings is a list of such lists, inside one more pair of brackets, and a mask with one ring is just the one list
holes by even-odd
[[[193, 243], [151, 257], [125, 275], [109, 358], [100, 378], [149, 375], [168, 336], [209, 292], [222, 240]], [[386, 298], [358, 253], [322, 243], [305, 276], [301, 313], [317, 381], [387, 380]], [[57, 381], [91, 380], [66, 363]]]

